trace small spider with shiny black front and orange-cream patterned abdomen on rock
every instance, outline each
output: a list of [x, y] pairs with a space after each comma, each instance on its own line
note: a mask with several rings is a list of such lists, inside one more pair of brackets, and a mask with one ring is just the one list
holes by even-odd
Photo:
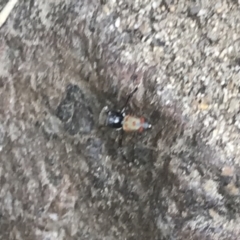
[[125, 132], [142, 132], [144, 129], [151, 128], [151, 124], [146, 122], [143, 117], [138, 118], [125, 114], [125, 107], [136, 91], [137, 88], [128, 96], [127, 101], [121, 111], [109, 110], [107, 106], [104, 107], [99, 115], [100, 125], [115, 129], [123, 129]]

